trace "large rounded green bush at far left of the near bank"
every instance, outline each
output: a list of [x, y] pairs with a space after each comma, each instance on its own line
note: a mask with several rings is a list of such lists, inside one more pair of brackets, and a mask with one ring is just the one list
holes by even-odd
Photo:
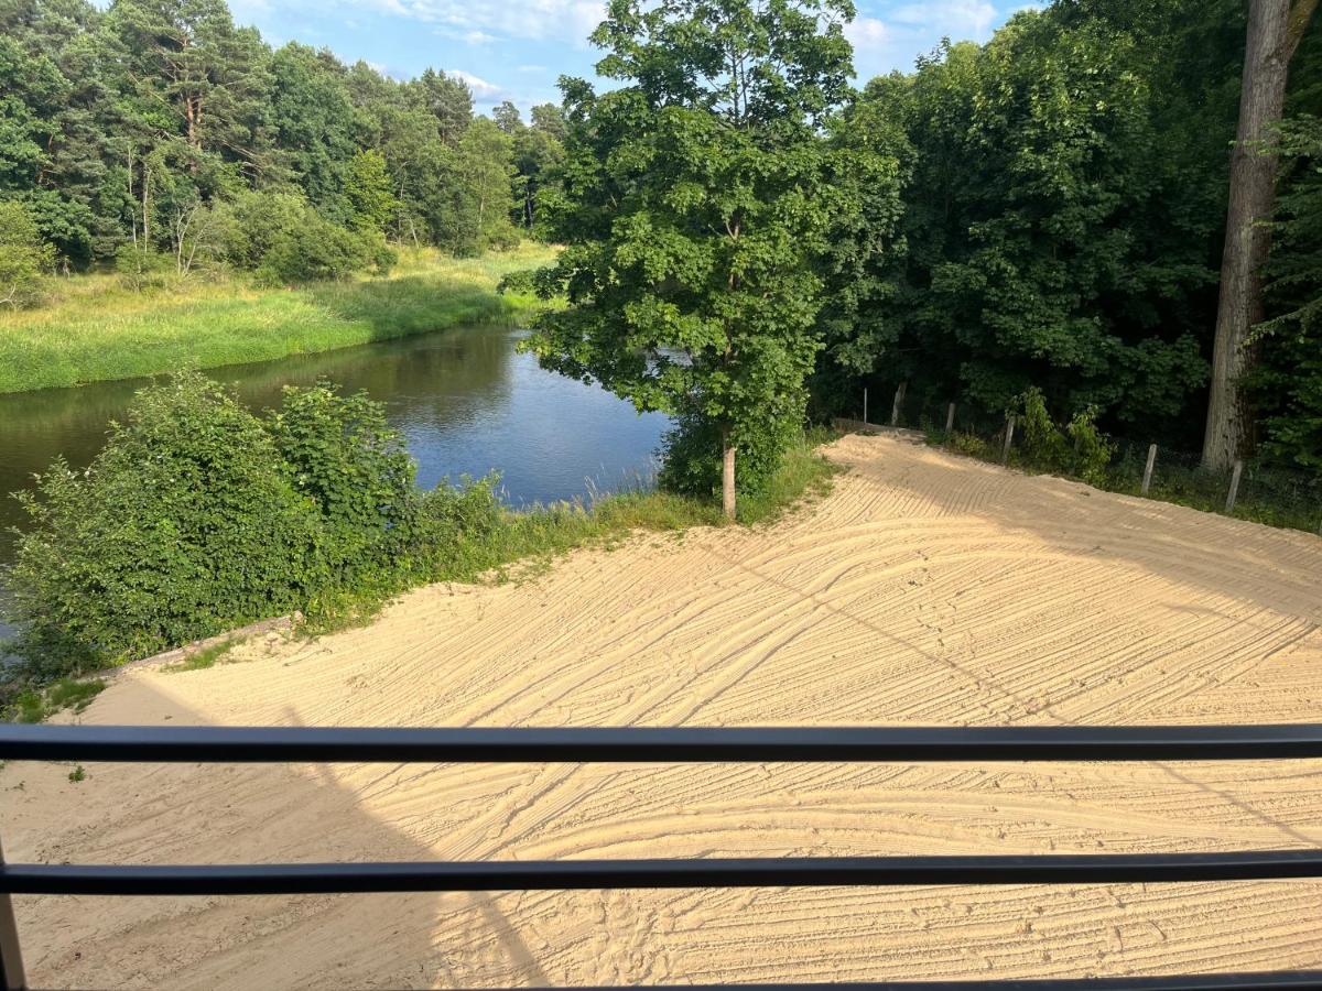
[[85, 472], [20, 497], [20, 653], [61, 675], [297, 608], [325, 581], [316, 507], [262, 424], [197, 374], [137, 394]]

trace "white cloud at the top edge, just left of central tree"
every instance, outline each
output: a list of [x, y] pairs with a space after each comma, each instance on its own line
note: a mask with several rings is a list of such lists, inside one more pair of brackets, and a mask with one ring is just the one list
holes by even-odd
[[472, 0], [369, 0], [385, 13], [412, 17], [459, 32], [582, 44], [605, 17], [602, 0], [522, 0], [484, 4]]

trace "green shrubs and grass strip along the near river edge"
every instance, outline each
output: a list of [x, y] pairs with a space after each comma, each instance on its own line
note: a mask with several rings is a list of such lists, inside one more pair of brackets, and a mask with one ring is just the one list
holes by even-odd
[[[744, 521], [818, 489], [830, 468], [792, 447]], [[382, 407], [329, 382], [290, 387], [264, 418], [196, 371], [139, 392], [85, 472], [56, 462], [20, 495], [29, 525], [7, 579], [26, 663], [21, 692], [303, 610], [313, 629], [369, 616], [390, 596], [635, 529], [717, 523], [711, 499], [632, 492], [512, 513], [496, 477], [430, 492]]]

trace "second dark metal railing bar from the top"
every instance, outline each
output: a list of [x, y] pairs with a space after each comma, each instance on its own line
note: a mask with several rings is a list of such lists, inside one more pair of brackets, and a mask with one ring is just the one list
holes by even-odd
[[368, 892], [1166, 884], [1322, 877], [1322, 851], [1010, 856], [504, 860], [338, 864], [8, 864], [13, 895], [325, 895]]

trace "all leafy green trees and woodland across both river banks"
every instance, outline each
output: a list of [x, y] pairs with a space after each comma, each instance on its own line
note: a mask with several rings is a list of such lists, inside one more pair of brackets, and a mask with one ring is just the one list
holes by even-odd
[[[680, 488], [713, 484], [690, 447], [723, 436], [756, 486], [805, 412], [900, 382], [988, 416], [1039, 390], [1059, 423], [1183, 449], [1211, 399], [1236, 429], [1211, 462], [1315, 470], [1314, 7], [1056, 0], [858, 81], [847, 0], [617, 0], [592, 38], [611, 89], [562, 79], [525, 124], [442, 71], [272, 49], [223, 0], [3, 0], [0, 297], [108, 266], [292, 284], [537, 237], [564, 246], [538, 284], [570, 307], [533, 346], [673, 415]], [[1237, 140], [1268, 8], [1289, 17], [1281, 108]], [[1236, 156], [1268, 169], [1269, 209], [1223, 279]]]

